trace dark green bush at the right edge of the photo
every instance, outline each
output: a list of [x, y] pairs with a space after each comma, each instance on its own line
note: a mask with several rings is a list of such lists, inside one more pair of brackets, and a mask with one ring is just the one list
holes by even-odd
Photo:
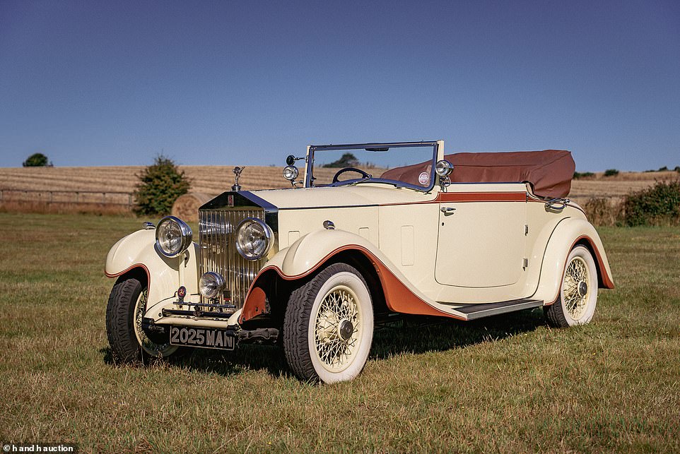
[[623, 199], [626, 225], [678, 225], [680, 223], [680, 180], [658, 181], [649, 189]]

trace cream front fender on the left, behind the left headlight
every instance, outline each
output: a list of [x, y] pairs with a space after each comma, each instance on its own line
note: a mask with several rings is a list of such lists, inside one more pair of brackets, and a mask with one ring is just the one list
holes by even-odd
[[180, 285], [187, 288], [187, 295], [198, 292], [198, 251], [199, 246], [192, 243], [184, 254], [165, 257], [156, 251], [156, 232], [138, 230], [112, 246], [106, 256], [104, 273], [107, 277], [118, 277], [135, 268], [143, 269], [148, 278], [147, 312], [153, 316], [153, 306], [175, 297]]

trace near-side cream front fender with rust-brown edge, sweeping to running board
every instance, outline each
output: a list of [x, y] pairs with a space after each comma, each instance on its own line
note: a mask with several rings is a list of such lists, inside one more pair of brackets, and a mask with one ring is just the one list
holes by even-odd
[[[344, 230], [317, 230], [306, 234], [286, 249], [281, 249], [260, 270], [252, 282], [243, 305], [239, 323], [267, 312], [267, 298], [262, 281], [275, 272], [286, 281], [299, 280], [315, 272], [336, 254], [356, 251], [375, 268], [385, 295], [387, 307], [395, 312], [421, 315], [451, 316], [436, 309], [424, 294], [399, 271], [380, 249], [363, 237]], [[283, 301], [279, 301], [283, 302]]]

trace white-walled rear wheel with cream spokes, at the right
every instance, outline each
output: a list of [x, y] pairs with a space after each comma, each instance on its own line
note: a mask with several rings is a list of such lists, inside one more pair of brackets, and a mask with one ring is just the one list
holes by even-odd
[[560, 295], [545, 313], [549, 325], [566, 328], [592, 320], [597, 304], [597, 267], [584, 246], [571, 250], [564, 267]]

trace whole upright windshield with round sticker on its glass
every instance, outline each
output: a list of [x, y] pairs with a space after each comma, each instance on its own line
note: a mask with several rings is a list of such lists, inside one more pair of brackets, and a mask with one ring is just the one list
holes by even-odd
[[436, 157], [436, 142], [313, 145], [307, 186], [385, 183], [429, 191]]

